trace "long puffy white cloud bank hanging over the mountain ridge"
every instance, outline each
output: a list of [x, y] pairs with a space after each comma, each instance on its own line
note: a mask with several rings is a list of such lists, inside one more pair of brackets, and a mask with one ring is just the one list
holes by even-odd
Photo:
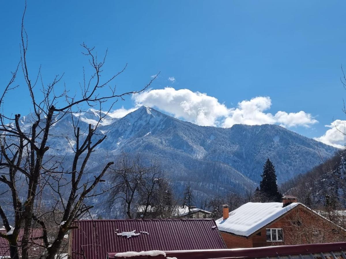
[[284, 127], [309, 127], [317, 123], [311, 114], [303, 111], [298, 113], [279, 111], [275, 115], [265, 113], [272, 105], [268, 96], [243, 100], [236, 108], [228, 108], [225, 104], [219, 103], [217, 98], [205, 93], [166, 87], [134, 95], [133, 100], [136, 106], [156, 107], [177, 118], [202, 126], [280, 124]]

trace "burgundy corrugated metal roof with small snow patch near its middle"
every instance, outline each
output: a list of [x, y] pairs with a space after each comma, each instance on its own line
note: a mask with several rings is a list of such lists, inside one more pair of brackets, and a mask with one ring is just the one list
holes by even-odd
[[[73, 259], [104, 259], [107, 252], [224, 249], [213, 219], [82, 220], [72, 230]], [[117, 233], [135, 231], [137, 236]], [[147, 232], [146, 233], [141, 233]]]

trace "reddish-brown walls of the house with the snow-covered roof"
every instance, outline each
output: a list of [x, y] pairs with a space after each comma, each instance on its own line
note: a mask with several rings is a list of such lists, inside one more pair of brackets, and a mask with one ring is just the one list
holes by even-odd
[[[299, 223], [300, 222], [300, 223]], [[282, 242], [267, 242], [266, 228], [282, 228]], [[261, 236], [244, 237], [221, 232], [227, 248], [281, 246], [346, 241], [346, 232], [303, 207], [292, 210], [261, 230]]]

